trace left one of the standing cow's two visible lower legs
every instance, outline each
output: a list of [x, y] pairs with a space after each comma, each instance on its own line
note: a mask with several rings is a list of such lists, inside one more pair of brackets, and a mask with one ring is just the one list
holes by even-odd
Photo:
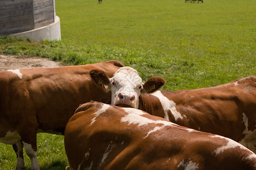
[[25, 167], [24, 164], [24, 158], [23, 158], [23, 143], [22, 141], [16, 142], [14, 145], [12, 145], [14, 148], [14, 151], [17, 156], [17, 165], [16, 165], [16, 170], [23, 169]]

